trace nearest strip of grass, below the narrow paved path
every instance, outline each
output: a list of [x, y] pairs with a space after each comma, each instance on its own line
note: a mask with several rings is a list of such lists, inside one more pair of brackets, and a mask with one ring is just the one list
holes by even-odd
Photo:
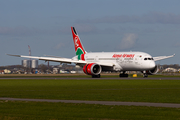
[[0, 101], [1, 120], [178, 120], [180, 109]]

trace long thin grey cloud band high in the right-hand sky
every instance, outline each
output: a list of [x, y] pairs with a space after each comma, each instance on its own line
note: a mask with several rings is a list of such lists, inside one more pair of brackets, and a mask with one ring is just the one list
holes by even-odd
[[106, 16], [97, 19], [81, 20], [81, 23], [141, 23], [141, 24], [180, 24], [180, 15], [173, 13], [150, 12], [143, 15]]

